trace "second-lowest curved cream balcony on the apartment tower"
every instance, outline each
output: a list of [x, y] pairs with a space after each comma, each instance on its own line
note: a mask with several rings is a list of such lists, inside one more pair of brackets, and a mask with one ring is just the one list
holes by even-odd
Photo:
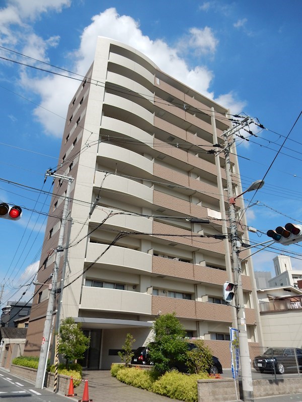
[[[88, 243], [85, 262], [94, 262], [107, 249], [107, 244]], [[98, 259], [94, 266], [101, 268], [123, 268], [123, 271], [132, 273], [152, 272], [152, 255], [129, 248], [111, 246]]]

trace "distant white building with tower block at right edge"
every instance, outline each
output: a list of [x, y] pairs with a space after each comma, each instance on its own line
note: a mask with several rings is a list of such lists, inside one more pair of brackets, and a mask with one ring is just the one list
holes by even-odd
[[277, 255], [274, 259], [275, 276], [268, 281], [268, 287], [298, 286], [298, 280], [302, 279], [301, 269], [292, 269], [290, 257]]

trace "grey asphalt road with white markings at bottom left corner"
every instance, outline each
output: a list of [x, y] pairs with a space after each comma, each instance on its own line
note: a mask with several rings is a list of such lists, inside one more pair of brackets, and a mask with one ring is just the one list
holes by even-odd
[[33, 384], [11, 375], [0, 372], [0, 400], [5, 402], [66, 402], [67, 398], [53, 394], [47, 389], [35, 388]]

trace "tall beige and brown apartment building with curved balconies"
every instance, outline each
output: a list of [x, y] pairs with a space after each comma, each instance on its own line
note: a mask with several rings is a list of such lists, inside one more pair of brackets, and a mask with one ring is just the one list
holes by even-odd
[[[91, 337], [83, 367], [109, 368], [127, 333], [141, 346], [154, 319], [173, 312], [188, 337], [204, 339], [230, 367], [236, 312], [222, 300], [223, 283], [233, 280], [230, 239], [215, 238], [228, 234], [228, 197], [224, 154], [213, 152], [231, 126], [227, 112], [139, 51], [98, 38], [71, 98], [56, 171], [74, 179], [58, 280], [64, 272], [60, 319], [73, 317]], [[231, 161], [239, 194], [235, 148]], [[66, 187], [55, 179], [39, 282], [53, 270]], [[255, 351], [262, 339], [255, 280], [250, 260], [242, 265]], [[25, 351], [32, 355], [48, 288], [36, 291]]]

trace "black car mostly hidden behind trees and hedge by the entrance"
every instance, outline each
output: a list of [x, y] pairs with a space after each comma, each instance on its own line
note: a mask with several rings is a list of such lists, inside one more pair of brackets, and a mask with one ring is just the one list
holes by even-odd
[[[150, 344], [149, 344], [150, 345]], [[143, 364], [143, 365], [153, 365], [153, 362], [149, 360], [149, 345], [140, 346], [134, 351], [134, 356], [132, 357], [131, 364]], [[197, 346], [194, 343], [188, 342], [188, 350], [196, 349]], [[212, 358], [212, 366], [208, 369], [209, 374], [222, 374], [222, 366], [219, 359], [216, 356]], [[170, 361], [170, 369], [178, 370], [183, 373], [188, 372], [188, 368], [184, 362]]]

